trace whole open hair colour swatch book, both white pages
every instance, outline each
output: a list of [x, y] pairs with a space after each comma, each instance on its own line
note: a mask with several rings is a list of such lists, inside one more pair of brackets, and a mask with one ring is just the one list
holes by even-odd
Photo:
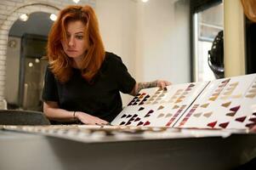
[[147, 127], [247, 128], [256, 124], [256, 74], [142, 89], [111, 122]]

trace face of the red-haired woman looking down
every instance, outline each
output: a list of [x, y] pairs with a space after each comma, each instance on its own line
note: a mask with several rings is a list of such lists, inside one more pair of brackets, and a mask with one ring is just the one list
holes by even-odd
[[73, 59], [82, 59], [89, 47], [88, 34], [86, 37], [83, 32], [85, 25], [80, 20], [70, 21], [67, 24], [67, 42], [62, 41], [62, 48], [65, 54]]

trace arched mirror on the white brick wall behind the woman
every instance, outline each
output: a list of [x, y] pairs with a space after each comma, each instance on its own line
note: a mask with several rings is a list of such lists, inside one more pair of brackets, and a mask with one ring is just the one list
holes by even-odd
[[6, 59], [5, 99], [9, 109], [43, 111], [41, 95], [47, 61], [50, 14], [31, 13], [28, 20], [16, 20], [9, 31]]

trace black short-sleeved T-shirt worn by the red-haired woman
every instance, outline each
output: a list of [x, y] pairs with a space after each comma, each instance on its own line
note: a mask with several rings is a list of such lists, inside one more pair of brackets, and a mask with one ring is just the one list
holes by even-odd
[[58, 102], [60, 108], [67, 111], [83, 111], [111, 122], [122, 111], [119, 91], [129, 94], [134, 85], [135, 80], [128, 73], [122, 59], [116, 54], [106, 52], [93, 84], [88, 83], [78, 69], [73, 69], [73, 75], [68, 82], [61, 83], [47, 68], [43, 100]]

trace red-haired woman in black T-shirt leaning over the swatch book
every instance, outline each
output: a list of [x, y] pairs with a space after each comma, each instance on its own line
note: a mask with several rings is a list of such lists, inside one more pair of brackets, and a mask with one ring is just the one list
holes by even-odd
[[166, 81], [137, 83], [121, 58], [105, 52], [97, 17], [89, 6], [60, 11], [48, 35], [43, 112], [51, 121], [107, 124], [122, 111], [119, 91], [135, 95]]

